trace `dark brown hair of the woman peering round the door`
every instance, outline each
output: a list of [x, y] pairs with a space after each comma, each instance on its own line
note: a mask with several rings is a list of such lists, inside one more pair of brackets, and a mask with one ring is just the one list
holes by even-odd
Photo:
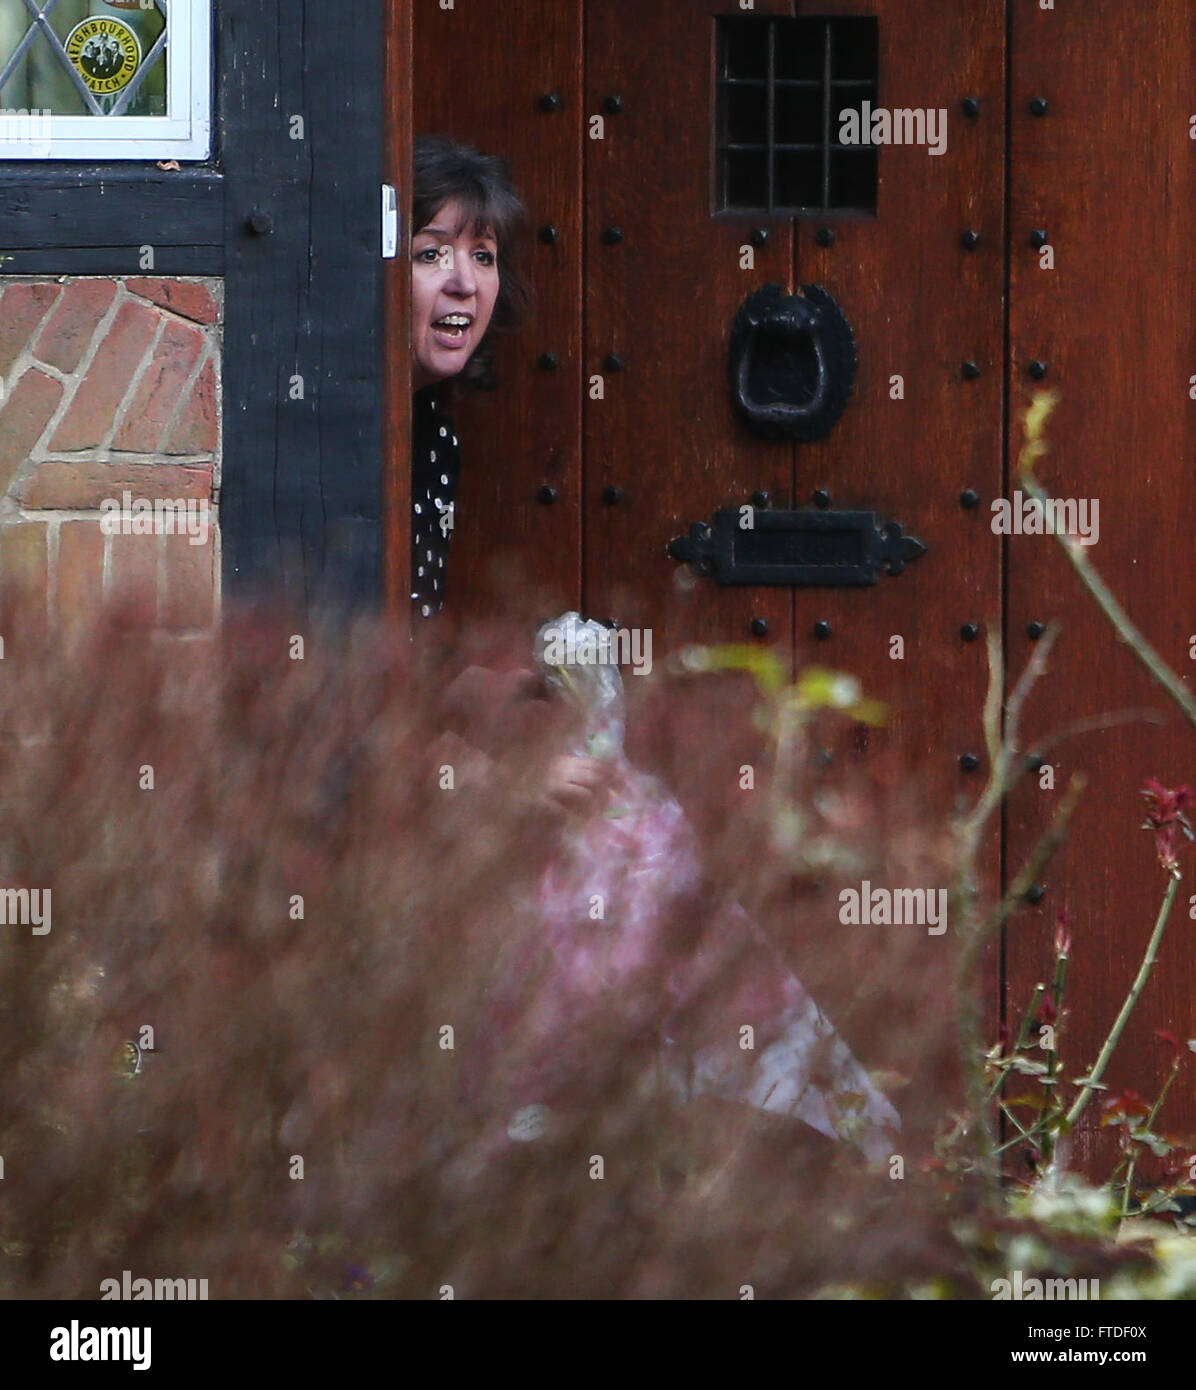
[[510, 181], [506, 163], [483, 154], [448, 135], [417, 135], [412, 154], [412, 238], [433, 221], [449, 199], [456, 199], [466, 222], [490, 228], [498, 242], [498, 299], [485, 336], [458, 381], [484, 391], [496, 385], [496, 334], [520, 327], [531, 302], [531, 288], [520, 268], [527, 208]]

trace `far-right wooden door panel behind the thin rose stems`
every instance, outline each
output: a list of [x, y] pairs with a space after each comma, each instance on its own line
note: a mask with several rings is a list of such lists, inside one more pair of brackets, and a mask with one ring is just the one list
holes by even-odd
[[[1058, 391], [1050, 453], [1039, 466], [1057, 498], [1099, 502], [1089, 556], [1157, 651], [1186, 676], [1196, 630], [1190, 464], [1196, 371], [1190, 247], [1196, 26], [1186, 0], [1082, 8], [1012, 6], [1011, 404], [1021, 411], [1047, 367]], [[1031, 103], [1046, 100], [1046, 113]], [[1046, 229], [1054, 270], [1029, 245]], [[1011, 456], [1021, 439], [1012, 421]], [[1017, 478], [1010, 478], [1010, 495]], [[1031, 712], [1028, 746], [1076, 720], [1151, 706], [1167, 724], [1132, 724], [1068, 741], [1051, 756], [1056, 790], [1028, 785], [1008, 815], [1011, 872], [1043, 830], [1072, 771], [1089, 776], [1069, 845], [1050, 866], [1040, 906], [1008, 935], [1011, 1006], [1024, 1006], [1050, 967], [1051, 926], [1072, 919], [1068, 1074], [1089, 1066], [1120, 1008], [1154, 920], [1164, 880], [1142, 834], [1146, 777], [1190, 783], [1196, 739], [1108, 630], [1050, 537], [1008, 542], [1011, 676], [1031, 651], [1026, 624], [1064, 623]], [[1185, 873], [1190, 874], [1190, 855]], [[1181, 890], [1154, 976], [1106, 1077], [1147, 1098], [1168, 1058], [1154, 1029], [1196, 1033], [1196, 959]], [[1081, 1156], [1097, 1144], [1097, 1106], [1085, 1119]], [[1177, 1087], [1164, 1126], [1196, 1125], [1190, 1088]]]

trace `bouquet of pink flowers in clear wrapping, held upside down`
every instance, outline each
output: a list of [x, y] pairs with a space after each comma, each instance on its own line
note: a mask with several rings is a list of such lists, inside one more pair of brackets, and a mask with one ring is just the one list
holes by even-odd
[[566, 613], [541, 627], [534, 655], [583, 716], [574, 751], [609, 762], [611, 776], [562, 835], [540, 883], [541, 930], [494, 1001], [485, 1031], [519, 1022], [533, 1040], [503, 1077], [508, 1136], [541, 1134], [555, 1097], [601, 1094], [615, 1061], [592, 1040], [606, 1033], [623, 1061], [655, 1049], [674, 1101], [706, 1094], [787, 1115], [886, 1159], [896, 1109], [744, 909], [705, 892], [680, 805], [629, 762], [611, 632]]

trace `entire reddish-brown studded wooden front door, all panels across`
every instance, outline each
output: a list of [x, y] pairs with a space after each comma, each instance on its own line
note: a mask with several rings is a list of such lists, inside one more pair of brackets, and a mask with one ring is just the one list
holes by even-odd
[[[506, 156], [533, 210], [531, 322], [503, 348], [499, 389], [458, 413], [449, 606], [483, 607], [522, 573], [545, 613], [651, 627], [658, 652], [758, 641], [794, 670], [851, 671], [893, 720], [866, 744], [848, 734], [843, 756], [900, 749], [928, 796], [968, 805], [987, 773], [989, 624], [1015, 673], [1031, 624], [1067, 623], [1035, 737], [1164, 708], [1057, 542], [994, 532], [1039, 381], [1062, 393], [1043, 481], [1100, 498], [1093, 557], [1186, 670], [1196, 74], [1186, 0], [1133, 15], [1118, 0], [932, 8], [527, 0], [496, 43], [488, 14], [420, 7], [414, 121]], [[889, 143], [839, 138], [844, 108], [864, 117], [864, 103], [873, 120], [890, 113]], [[819, 286], [854, 334], [850, 402], [815, 439], [763, 438], [733, 404], [733, 324], [769, 284]], [[695, 523], [744, 505], [873, 513], [925, 553], [866, 587], [725, 585], [670, 557]], [[1158, 897], [1136, 792], [1151, 774], [1183, 781], [1190, 751], [1174, 720], [1060, 745], [1054, 790], [1022, 788], [987, 844], [996, 891], [1067, 774], [1089, 771], [1072, 845], [994, 962], [1012, 1013], [1067, 909], [1075, 1068], [1094, 1058]], [[1153, 1027], [1196, 1031], [1182, 927], [1168, 951], [1139, 1058]]]

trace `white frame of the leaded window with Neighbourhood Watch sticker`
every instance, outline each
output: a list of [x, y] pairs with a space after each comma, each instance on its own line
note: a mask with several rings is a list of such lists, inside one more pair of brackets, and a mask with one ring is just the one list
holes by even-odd
[[[31, 17], [32, 18], [32, 17]], [[170, 0], [165, 115], [49, 115], [0, 160], [206, 160], [211, 153], [211, 0]], [[182, 42], [179, 42], [179, 38]], [[0, 96], [0, 110], [11, 113]], [[15, 117], [8, 115], [8, 121]]]

